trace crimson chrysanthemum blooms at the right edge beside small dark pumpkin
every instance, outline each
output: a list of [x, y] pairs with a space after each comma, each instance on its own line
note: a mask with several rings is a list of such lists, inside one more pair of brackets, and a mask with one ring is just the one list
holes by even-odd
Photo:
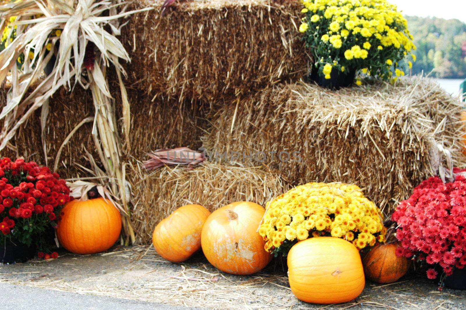
[[[454, 173], [466, 169], [454, 168]], [[410, 198], [400, 202], [391, 219], [397, 224], [401, 243], [397, 255], [439, 264], [445, 274], [466, 265], [466, 178], [456, 175], [451, 183], [439, 177], [424, 180]], [[435, 273], [435, 274], [434, 274]], [[433, 269], [429, 278], [436, 277]]]

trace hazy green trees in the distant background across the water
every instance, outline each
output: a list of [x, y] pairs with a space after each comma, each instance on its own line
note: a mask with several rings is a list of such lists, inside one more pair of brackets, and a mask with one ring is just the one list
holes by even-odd
[[[436, 17], [405, 16], [414, 36], [417, 61], [411, 73], [433, 77], [466, 77], [466, 24]], [[406, 66], [407, 67], [407, 66]], [[406, 68], [406, 72], [409, 69]]]

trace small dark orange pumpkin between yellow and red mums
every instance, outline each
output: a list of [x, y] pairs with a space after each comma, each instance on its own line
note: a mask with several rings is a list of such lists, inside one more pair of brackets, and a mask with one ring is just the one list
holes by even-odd
[[397, 243], [379, 243], [363, 257], [364, 274], [370, 281], [391, 283], [404, 276], [411, 266], [406, 257], [398, 257]]

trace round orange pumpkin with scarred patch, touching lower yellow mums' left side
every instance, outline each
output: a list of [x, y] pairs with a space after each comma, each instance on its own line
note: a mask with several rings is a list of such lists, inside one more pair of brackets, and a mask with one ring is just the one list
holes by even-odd
[[201, 234], [207, 260], [224, 272], [250, 275], [267, 266], [272, 255], [257, 232], [265, 209], [253, 202], [233, 202], [212, 212]]

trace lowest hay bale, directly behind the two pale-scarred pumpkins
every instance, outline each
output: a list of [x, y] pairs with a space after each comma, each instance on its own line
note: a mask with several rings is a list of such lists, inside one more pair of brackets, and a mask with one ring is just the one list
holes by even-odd
[[192, 170], [164, 167], [147, 171], [132, 165], [132, 224], [137, 243], [151, 244], [158, 222], [178, 207], [200, 204], [210, 211], [234, 201], [253, 201], [262, 206], [275, 195], [288, 191], [280, 177], [258, 167], [240, 167], [204, 162]]

